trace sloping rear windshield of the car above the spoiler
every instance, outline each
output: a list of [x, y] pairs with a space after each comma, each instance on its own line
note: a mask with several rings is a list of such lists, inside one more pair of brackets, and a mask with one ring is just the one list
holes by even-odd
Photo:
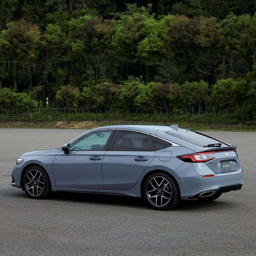
[[222, 146], [228, 146], [227, 144], [221, 141], [218, 141], [217, 139], [208, 137], [196, 131], [178, 129], [178, 130], [165, 131], [165, 133], [199, 147], [203, 147], [208, 144], [216, 144], [216, 143], [222, 143]]

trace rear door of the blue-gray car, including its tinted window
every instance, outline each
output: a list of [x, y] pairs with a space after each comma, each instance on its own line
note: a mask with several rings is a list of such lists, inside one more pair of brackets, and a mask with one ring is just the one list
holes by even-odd
[[132, 189], [154, 157], [149, 134], [117, 130], [102, 163], [104, 189]]

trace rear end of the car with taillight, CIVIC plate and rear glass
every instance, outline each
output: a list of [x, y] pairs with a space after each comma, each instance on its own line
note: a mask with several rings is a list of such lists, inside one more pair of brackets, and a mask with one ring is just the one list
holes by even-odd
[[172, 173], [182, 198], [210, 197], [241, 189], [243, 170], [236, 146], [186, 129], [162, 133], [167, 134], [171, 141], [191, 150], [189, 154], [176, 155], [182, 165]]

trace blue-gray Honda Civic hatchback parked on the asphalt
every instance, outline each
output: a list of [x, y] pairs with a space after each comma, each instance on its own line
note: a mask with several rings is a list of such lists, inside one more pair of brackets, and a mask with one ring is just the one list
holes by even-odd
[[51, 191], [143, 197], [157, 210], [181, 198], [215, 200], [240, 190], [237, 147], [178, 125], [98, 127], [61, 149], [22, 154], [11, 185], [32, 199]]

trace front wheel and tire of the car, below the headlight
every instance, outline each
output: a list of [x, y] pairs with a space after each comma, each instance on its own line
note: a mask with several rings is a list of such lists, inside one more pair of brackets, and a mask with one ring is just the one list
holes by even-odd
[[25, 193], [32, 199], [46, 198], [51, 192], [48, 174], [39, 166], [31, 166], [25, 171], [22, 184]]

